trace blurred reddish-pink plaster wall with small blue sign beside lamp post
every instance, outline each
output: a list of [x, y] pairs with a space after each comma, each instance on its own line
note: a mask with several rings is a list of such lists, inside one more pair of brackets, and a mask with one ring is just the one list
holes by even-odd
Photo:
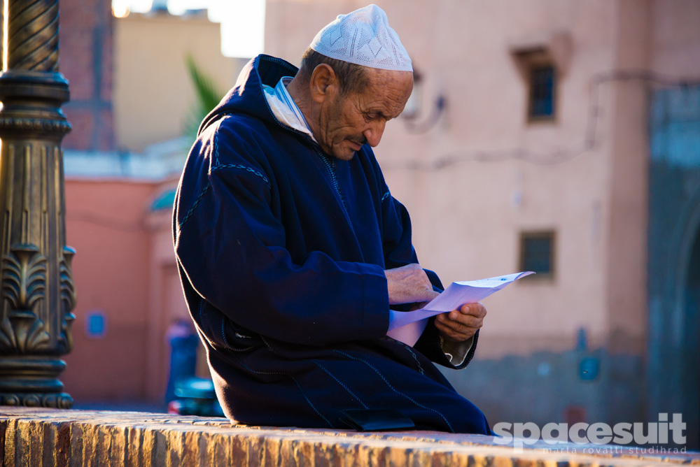
[[[66, 391], [85, 399], [146, 398], [151, 234], [144, 222], [153, 183], [66, 180], [66, 238], [77, 250], [75, 352], [64, 357]], [[85, 313], [107, 315], [104, 338], [88, 338]], [[158, 380], [162, 384], [162, 380]]]

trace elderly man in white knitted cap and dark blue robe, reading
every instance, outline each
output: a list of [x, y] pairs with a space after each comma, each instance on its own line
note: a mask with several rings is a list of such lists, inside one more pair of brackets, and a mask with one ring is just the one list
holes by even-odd
[[431, 319], [413, 346], [386, 336], [390, 306], [442, 290], [370, 149], [412, 87], [411, 61], [372, 5], [322, 29], [298, 71], [255, 57], [202, 122], [174, 240], [231, 419], [491, 433], [430, 363], [468, 364], [483, 306]]

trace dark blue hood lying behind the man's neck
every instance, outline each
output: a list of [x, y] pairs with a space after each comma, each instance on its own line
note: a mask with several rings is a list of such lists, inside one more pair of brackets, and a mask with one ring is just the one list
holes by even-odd
[[227, 113], [246, 113], [265, 122], [280, 124], [269, 108], [262, 86], [274, 87], [283, 76], [295, 76], [297, 71], [299, 69], [293, 64], [269, 55], [261, 54], [251, 59], [241, 70], [236, 85], [202, 120], [197, 134], [202, 134], [204, 129]]

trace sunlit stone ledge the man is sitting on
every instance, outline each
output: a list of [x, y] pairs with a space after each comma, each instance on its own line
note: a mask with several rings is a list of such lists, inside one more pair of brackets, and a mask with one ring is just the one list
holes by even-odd
[[700, 465], [700, 453], [610, 445], [545, 448], [552, 446], [540, 443], [518, 452], [490, 436], [435, 431], [281, 429], [146, 412], [0, 407], [0, 459], [6, 467]]

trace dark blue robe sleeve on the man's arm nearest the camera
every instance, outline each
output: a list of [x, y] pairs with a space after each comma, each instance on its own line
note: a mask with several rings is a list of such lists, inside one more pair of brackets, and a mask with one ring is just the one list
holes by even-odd
[[[199, 148], [193, 164], [209, 160], [211, 167], [189, 168], [199, 174], [193, 185], [202, 185], [200, 193], [188, 196], [186, 206], [179, 201], [175, 250], [193, 289], [239, 326], [283, 342], [329, 345], [384, 336], [384, 270], [318, 251], [295, 264], [271, 208], [260, 147], [255, 138], [235, 136], [210, 141], [209, 158]], [[227, 164], [216, 164], [216, 144], [224, 141]], [[183, 175], [181, 192], [186, 183]]]

